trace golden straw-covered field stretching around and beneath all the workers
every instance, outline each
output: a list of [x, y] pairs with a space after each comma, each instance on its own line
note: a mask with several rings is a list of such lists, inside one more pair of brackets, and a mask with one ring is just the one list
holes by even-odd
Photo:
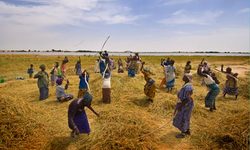
[[[167, 57], [167, 56], [166, 56]], [[68, 56], [67, 93], [78, 92], [79, 78], [74, 74], [78, 57]], [[125, 57], [123, 57], [125, 59]], [[142, 60], [155, 73], [153, 78], [159, 86], [163, 77], [160, 59], [144, 56]], [[238, 100], [233, 96], [223, 98], [222, 89], [226, 76], [216, 72], [221, 81], [221, 93], [217, 97], [217, 110], [209, 112], [204, 107], [207, 89], [201, 86], [196, 73], [200, 56], [173, 56], [177, 67], [176, 86], [172, 93], [157, 89], [154, 103], [148, 103], [143, 93], [144, 78], [138, 74], [127, 77], [127, 72], [112, 73], [111, 104], [101, 102], [101, 76], [94, 73], [95, 57], [82, 56], [82, 68], [90, 73], [90, 89], [96, 117], [86, 109], [90, 135], [70, 137], [67, 109], [70, 102], [58, 103], [55, 87], [50, 86], [49, 98], [38, 100], [37, 81], [29, 79], [26, 70], [31, 63], [38, 71], [40, 64], [47, 66], [61, 62], [63, 56], [0, 55], [0, 76], [7, 81], [0, 83], [0, 149], [249, 149], [249, 57], [205, 57], [212, 69], [221, 64], [233, 66], [239, 73]], [[114, 57], [118, 60], [118, 57]], [[234, 62], [230, 62], [231, 60]], [[176, 139], [178, 129], [172, 126], [172, 113], [176, 93], [183, 85], [182, 70], [187, 60], [192, 61], [194, 110], [191, 118], [191, 136]], [[234, 65], [237, 67], [234, 68]], [[240, 66], [239, 66], [240, 65]], [[246, 68], [244, 71], [237, 68]], [[16, 80], [17, 76], [25, 80]]]

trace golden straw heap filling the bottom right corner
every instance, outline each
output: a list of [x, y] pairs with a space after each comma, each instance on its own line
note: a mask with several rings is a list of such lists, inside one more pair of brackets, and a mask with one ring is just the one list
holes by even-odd
[[[249, 149], [249, 112], [240, 111], [218, 120], [207, 118], [193, 138], [203, 149]], [[197, 120], [196, 120], [197, 121]]]

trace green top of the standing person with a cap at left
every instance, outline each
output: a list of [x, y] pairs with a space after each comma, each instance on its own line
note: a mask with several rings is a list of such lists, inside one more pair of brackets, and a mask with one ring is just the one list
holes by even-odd
[[34, 78], [38, 78], [37, 85], [38, 88], [48, 87], [49, 86], [49, 75], [45, 71], [39, 71]]

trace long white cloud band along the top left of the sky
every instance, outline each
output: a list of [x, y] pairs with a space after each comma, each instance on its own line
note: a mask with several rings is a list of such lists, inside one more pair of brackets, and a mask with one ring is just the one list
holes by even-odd
[[139, 16], [112, 0], [23, 0], [42, 5], [13, 5], [0, 1], [1, 23], [32, 26], [80, 25], [81, 22], [128, 24]]

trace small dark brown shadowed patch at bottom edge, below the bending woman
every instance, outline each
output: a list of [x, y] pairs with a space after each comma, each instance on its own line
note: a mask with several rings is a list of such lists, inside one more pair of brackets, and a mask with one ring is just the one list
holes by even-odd
[[73, 142], [72, 137], [55, 137], [48, 145], [46, 149], [49, 150], [67, 150], [70, 143]]

